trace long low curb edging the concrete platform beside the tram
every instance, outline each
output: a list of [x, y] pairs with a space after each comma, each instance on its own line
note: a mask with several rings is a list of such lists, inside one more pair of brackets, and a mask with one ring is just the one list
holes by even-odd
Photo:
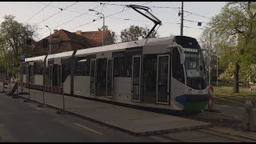
[[[20, 96], [20, 98], [24, 98], [24, 99], [29, 99], [29, 98], [25, 98], [25, 97], [22, 97]], [[33, 99], [30, 99], [31, 102], [36, 102], [36, 103], [39, 103], [39, 104], [43, 104], [43, 102], [38, 102], [38, 101], [35, 101]], [[50, 107], [50, 108], [53, 108], [55, 110], [62, 110], [61, 108], [58, 108], [57, 106], [51, 106], [49, 104], [45, 104], [46, 106]], [[102, 124], [103, 126], [108, 126], [108, 127], [111, 127], [111, 128], [114, 128], [116, 130], [121, 130], [123, 132], [126, 132], [128, 134], [132, 134], [134, 136], [147, 136], [147, 135], [153, 135], [153, 134], [166, 134], [166, 133], [170, 133], [170, 132], [178, 132], [178, 131], [184, 131], [184, 130], [195, 130], [195, 129], [202, 129], [202, 128], [206, 128], [206, 127], [210, 127], [210, 126], [213, 126], [211, 123], [209, 124], [206, 124], [204, 126], [190, 126], [190, 127], [182, 127], [182, 128], [175, 128], [175, 129], [171, 129], [171, 130], [154, 130], [154, 131], [146, 131], [146, 132], [139, 132], [139, 133], [136, 133], [134, 131], [130, 131], [130, 130], [126, 130], [126, 129], [123, 129], [123, 128], [120, 128], [118, 126], [113, 126], [113, 125], [110, 125], [106, 122], [102, 122], [102, 121], [98, 121], [94, 118], [89, 118], [89, 117], [86, 117], [84, 115], [81, 115], [81, 114], [76, 114], [74, 112], [71, 112], [69, 110], [65, 110], [67, 112], [67, 114], [71, 114], [71, 115], [74, 115], [78, 118], [83, 118], [83, 119], [86, 119], [86, 120], [90, 120], [92, 122], [97, 122], [99, 124]]]

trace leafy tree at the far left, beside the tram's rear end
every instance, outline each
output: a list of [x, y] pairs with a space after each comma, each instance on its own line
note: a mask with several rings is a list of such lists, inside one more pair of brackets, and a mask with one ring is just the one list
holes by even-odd
[[[27, 38], [33, 38], [36, 26], [30, 26], [14, 20], [13, 15], [5, 15], [0, 26], [0, 50], [2, 69], [18, 72], [19, 54], [31, 55], [31, 46], [26, 45]], [[14, 63], [13, 63], [14, 58]]]

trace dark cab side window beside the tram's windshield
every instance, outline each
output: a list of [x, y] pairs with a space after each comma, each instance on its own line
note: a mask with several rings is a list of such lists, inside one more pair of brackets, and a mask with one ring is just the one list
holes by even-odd
[[173, 50], [172, 58], [173, 77], [179, 82], [185, 83], [183, 66], [180, 64], [180, 54], [177, 49]]

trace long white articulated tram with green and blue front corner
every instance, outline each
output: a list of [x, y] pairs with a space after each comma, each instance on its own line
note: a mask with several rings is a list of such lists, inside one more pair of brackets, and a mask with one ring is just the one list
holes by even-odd
[[[30, 68], [31, 63], [38, 65]], [[61, 93], [63, 83], [67, 95], [166, 110], [203, 110], [209, 100], [202, 49], [186, 36], [27, 58], [22, 66], [28, 67], [23, 79], [33, 75], [34, 89], [42, 90], [44, 83], [53, 93]]]

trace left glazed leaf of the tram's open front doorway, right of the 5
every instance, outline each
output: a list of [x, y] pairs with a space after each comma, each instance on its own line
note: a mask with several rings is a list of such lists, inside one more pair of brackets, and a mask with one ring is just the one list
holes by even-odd
[[132, 65], [132, 101], [140, 102], [141, 100], [141, 66], [142, 57], [134, 56]]

